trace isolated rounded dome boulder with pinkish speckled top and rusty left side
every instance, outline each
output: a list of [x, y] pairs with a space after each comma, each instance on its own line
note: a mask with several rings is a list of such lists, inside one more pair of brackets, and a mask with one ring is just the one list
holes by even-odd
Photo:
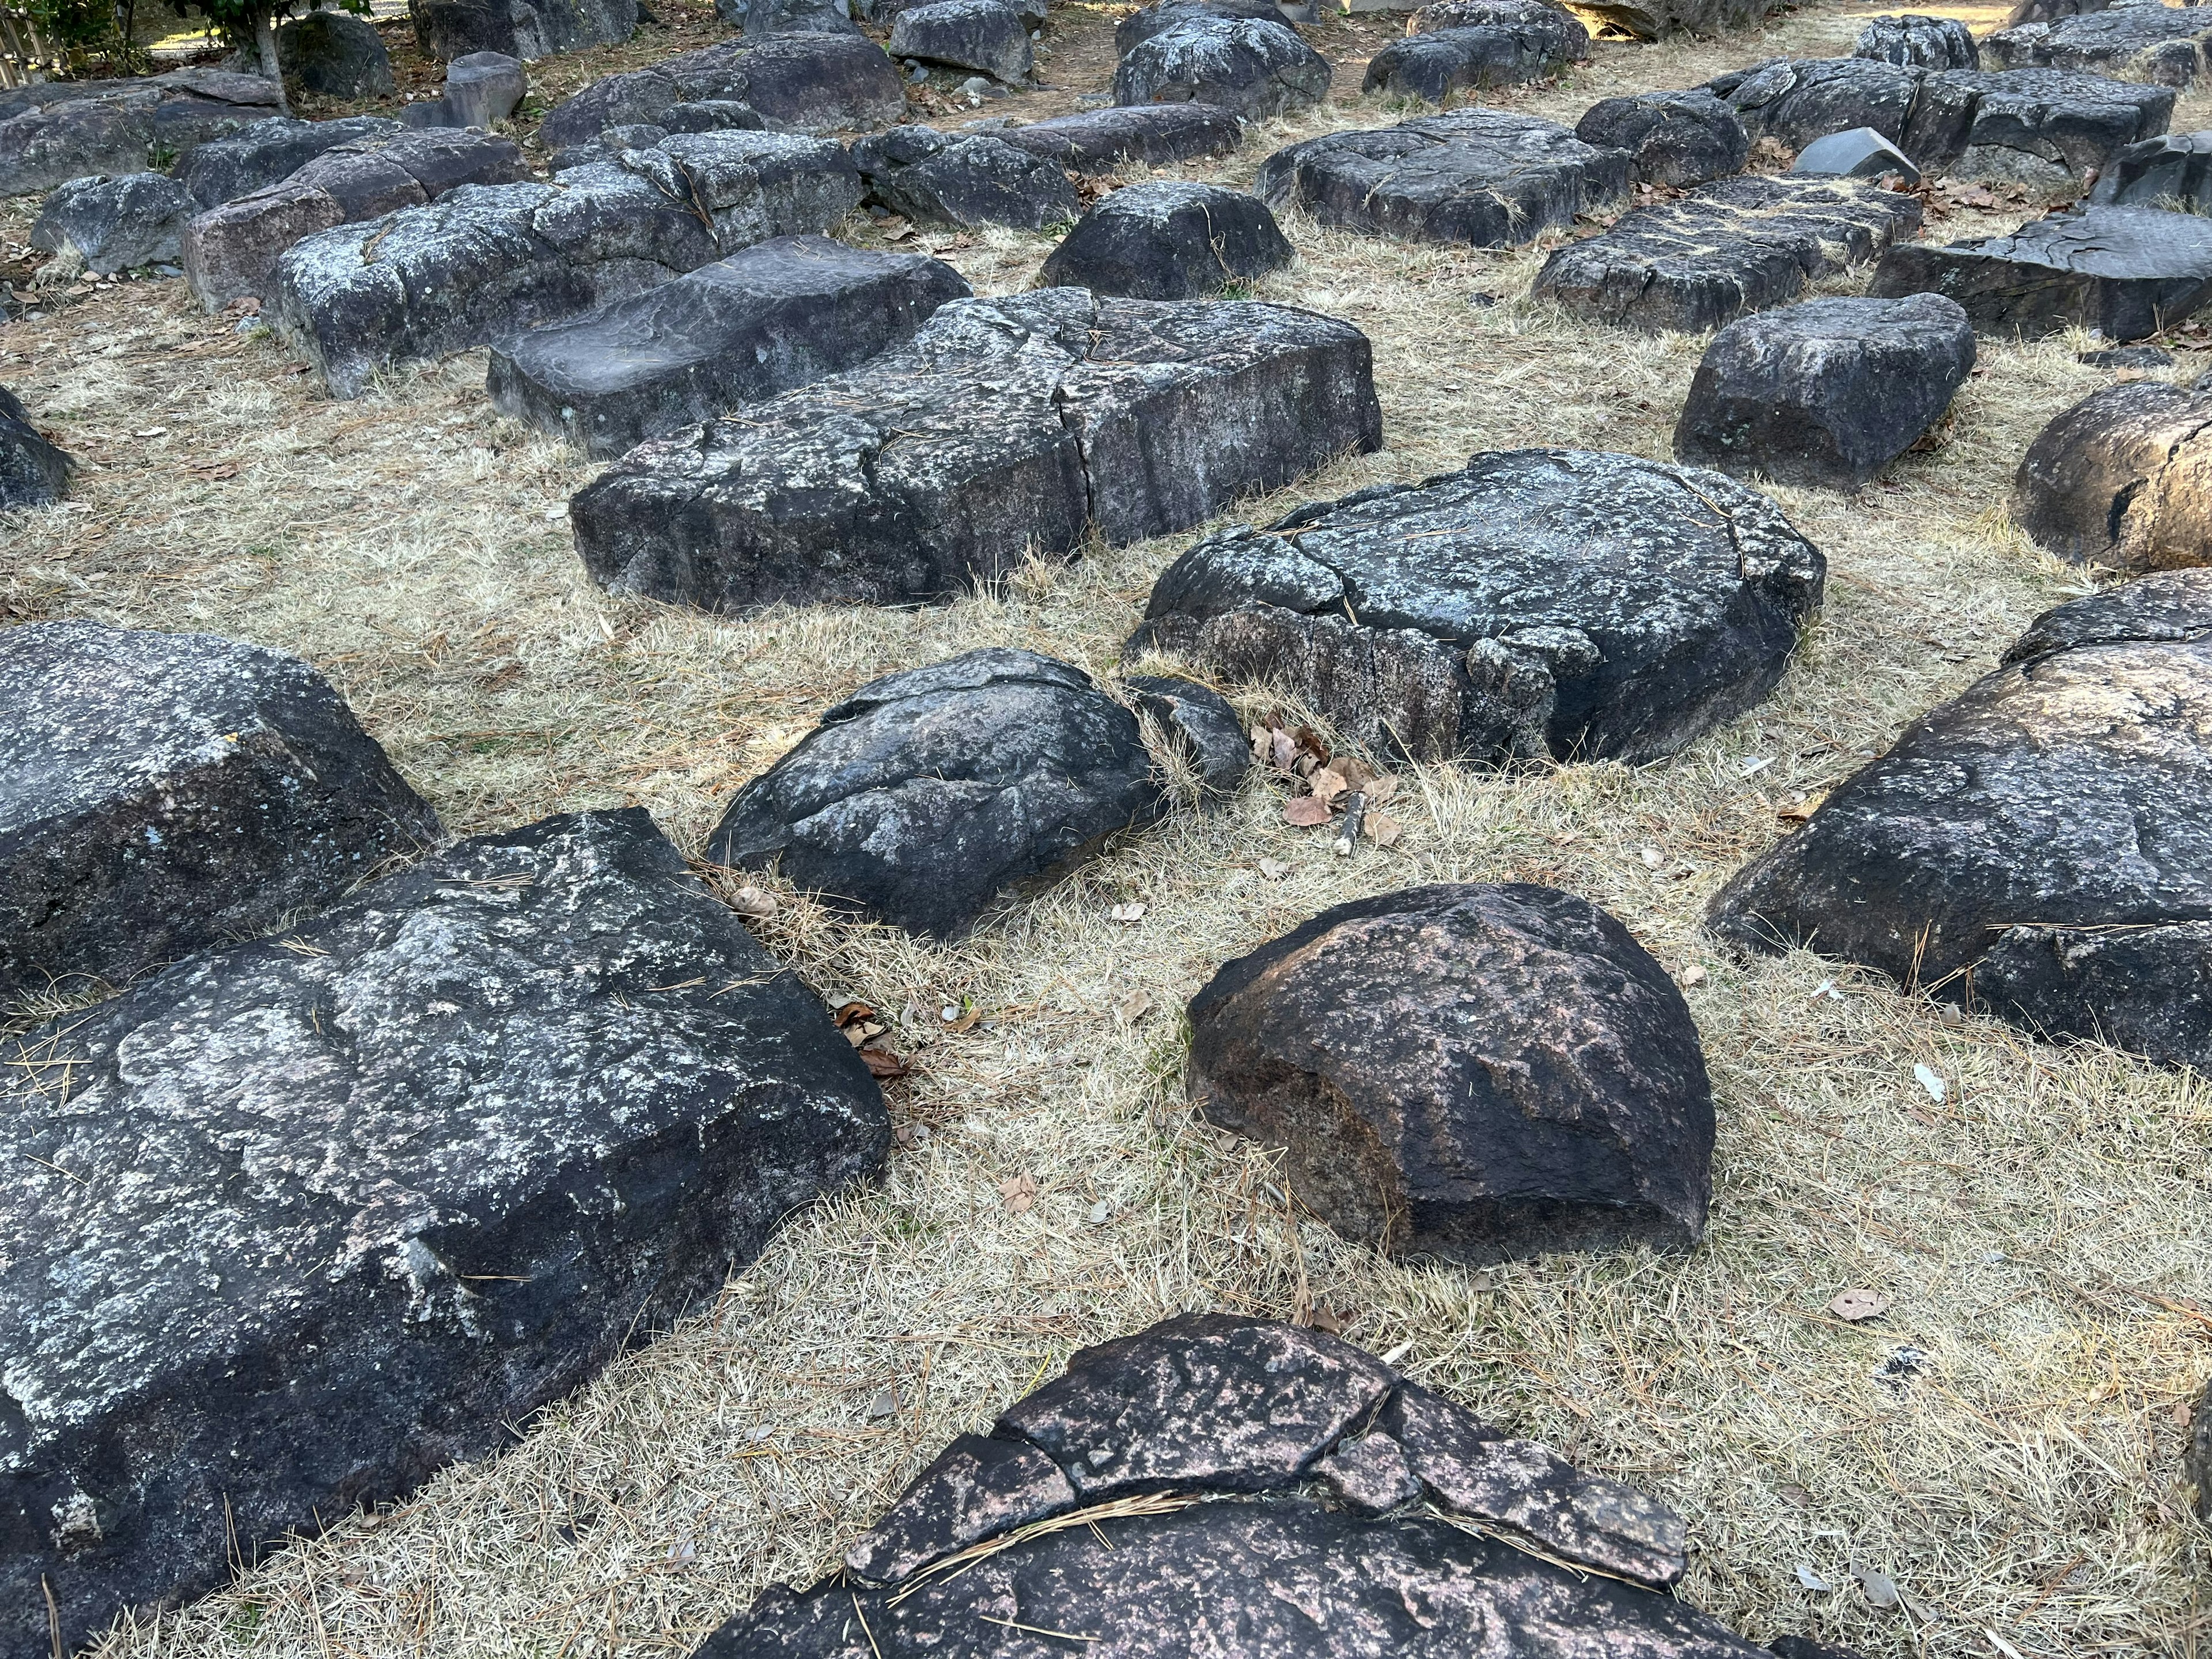
[[1705, 1237], [1690, 1009], [1588, 900], [1511, 883], [1321, 911], [1190, 1000], [1190, 1095], [1391, 1254], [1489, 1263]]

